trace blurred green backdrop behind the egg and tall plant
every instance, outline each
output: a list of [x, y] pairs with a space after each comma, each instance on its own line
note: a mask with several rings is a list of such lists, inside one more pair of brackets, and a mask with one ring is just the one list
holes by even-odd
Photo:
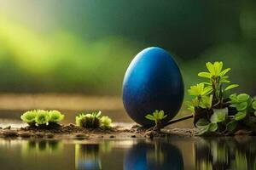
[[120, 95], [143, 48], [166, 48], [188, 88], [205, 62], [256, 94], [256, 2], [0, 0], [0, 93]]

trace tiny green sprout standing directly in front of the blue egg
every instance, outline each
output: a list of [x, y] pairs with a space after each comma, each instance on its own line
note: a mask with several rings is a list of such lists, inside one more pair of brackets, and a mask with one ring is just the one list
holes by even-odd
[[150, 121], [154, 121], [155, 123], [155, 126], [154, 128], [156, 130], [160, 130], [160, 128], [163, 127], [163, 124], [162, 124], [162, 120], [166, 118], [167, 115], [165, 115], [165, 112], [164, 111], [158, 111], [158, 110], [155, 110], [154, 113], [152, 115], [148, 114], [147, 116], [145, 116], [148, 120]]

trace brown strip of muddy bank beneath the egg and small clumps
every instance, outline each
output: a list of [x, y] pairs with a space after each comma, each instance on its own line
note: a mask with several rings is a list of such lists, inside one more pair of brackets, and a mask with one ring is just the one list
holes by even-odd
[[160, 138], [166, 135], [178, 135], [191, 137], [195, 135], [195, 129], [190, 128], [166, 128], [161, 132], [133, 126], [131, 128], [116, 126], [111, 129], [86, 129], [74, 124], [61, 125], [52, 129], [40, 129], [33, 127], [0, 129], [1, 138], [44, 138], [44, 139], [130, 139], [130, 138]]

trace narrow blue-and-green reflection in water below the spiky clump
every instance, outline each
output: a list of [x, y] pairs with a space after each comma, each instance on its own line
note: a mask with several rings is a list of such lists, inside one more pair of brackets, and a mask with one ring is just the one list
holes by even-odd
[[102, 169], [99, 147], [99, 144], [75, 144], [76, 169]]

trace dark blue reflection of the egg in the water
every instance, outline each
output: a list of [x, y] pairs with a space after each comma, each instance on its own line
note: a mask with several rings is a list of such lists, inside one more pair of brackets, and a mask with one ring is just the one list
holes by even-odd
[[180, 150], [166, 143], [139, 143], [127, 151], [125, 170], [182, 170], [183, 156]]

